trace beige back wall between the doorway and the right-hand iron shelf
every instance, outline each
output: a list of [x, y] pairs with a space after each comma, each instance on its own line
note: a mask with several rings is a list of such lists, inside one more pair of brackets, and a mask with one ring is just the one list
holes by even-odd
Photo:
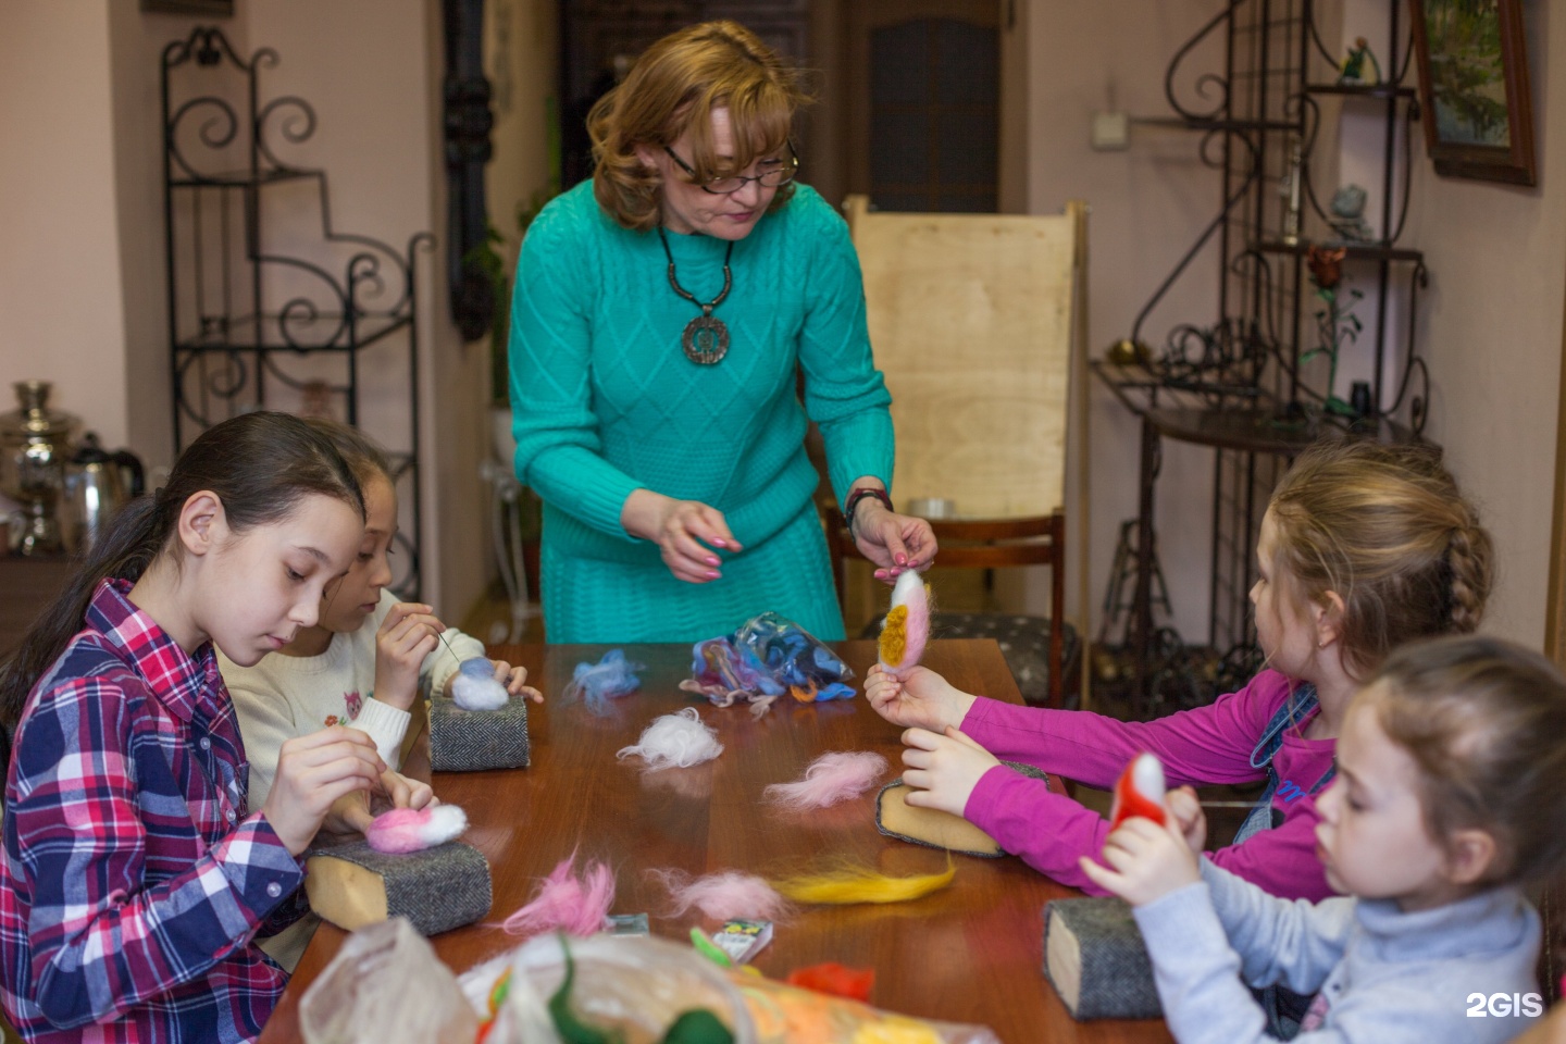
[[[1088, 349], [1099, 357], [1109, 343], [1131, 333], [1137, 311], [1215, 213], [1221, 188], [1196, 155], [1196, 135], [1137, 127], [1128, 152], [1093, 152], [1090, 119], [1112, 103], [1138, 116], [1167, 114], [1164, 70], [1170, 55], [1212, 17], [1214, 5], [1029, 0], [1019, 6], [1026, 6], [1027, 33], [1027, 210], [1059, 213], [1070, 199], [1092, 207]], [[1153, 313], [1143, 338], [1159, 346], [1174, 322], [1212, 322], [1215, 272], [1215, 255], [1198, 258]], [[1088, 589], [1096, 628], [1118, 524], [1137, 513], [1138, 426], [1096, 382], [1090, 401]], [[1073, 526], [1081, 520], [1076, 488], [1073, 468], [1066, 482]], [[1174, 626], [1187, 640], [1206, 640], [1212, 454], [1167, 445], [1157, 493], [1159, 554], [1174, 603]], [[1077, 537], [1068, 540], [1076, 556]], [[1045, 579], [1034, 578], [1029, 585], [1029, 606], [1038, 612], [1048, 606]], [[1073, 612], [1077, 584], [1079, 576], [1068, 578]]]

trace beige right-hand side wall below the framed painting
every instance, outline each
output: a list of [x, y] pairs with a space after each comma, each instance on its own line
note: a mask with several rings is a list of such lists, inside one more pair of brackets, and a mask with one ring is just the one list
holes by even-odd
[[1486, 631], [1533, 646], [1544, 635], [1566, 294], [1566, 11], [1547, 8], [1524, 3], [1538, 186], [1436, 177], [1420, 155], [1408, 218], [1431, 272], [1419, 315], [1436, 385], [1428, 432], [1483, 502], [1500, 553]]

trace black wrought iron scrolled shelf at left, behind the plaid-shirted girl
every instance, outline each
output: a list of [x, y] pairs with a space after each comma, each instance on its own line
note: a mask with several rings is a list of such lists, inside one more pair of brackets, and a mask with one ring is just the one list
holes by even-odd
[[[392, 589], [418, 598], [423, 548], [418, 459], [417, 260], [434, 239], [406, 246], [338, 232], [326, 171], [288, 163], [315, 110], [268, 97], [280, 63], [260, 49], [241, 58], [221, 30], [196, 27], [163, 49], [163, 207], [169, 373], [175, 449], [207, 427], [257, 409], [291, 409], [404, 430], [388, 443], [404, 526]], [[236, 83], [238, 81], [238, 83]], [[243, 99], [243, 100], [240, 100]], [[299, 214], [318, 214], [309, 235]], [[376, 349], [371, 358], [366, 349]]]

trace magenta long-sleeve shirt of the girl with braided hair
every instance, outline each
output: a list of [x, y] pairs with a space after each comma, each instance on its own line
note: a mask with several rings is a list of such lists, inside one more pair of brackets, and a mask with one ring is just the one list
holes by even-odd
[[[962, 728], [996, 758], [1038, 765], [1092, 787], [1113, 786], [1140, 751], [1159, 756], [1171, 787], [1253, 783], [1267, 773], [1251, 769], [1251, 751], [1292, 687], [1286, 676], [1264, 670], [1211, 706], [1154, 722], [1118, 722], [1084, 711], [979, 698]], [[1279, 786], [1272, 806], [1283, 812], [1283, 822], [1245, 844], [1209, 855], [1217, 866], [1273, 895], [1319, 902], [1333, 889], [1315, 858], [1320, 814], [1309, 792], [1331, 769], [1337, 743], [1304, 739], [1301, 733], [1311, 717], [1314, 712], [1284, 731], [1273, 758]], [[998, 765], [979, 779], [963, 815], [1040, 873], [1092, 895], [1104, 894], [1077, 867], [1077, 858], [1098, 858], [1109, 820], [1046, 789], [1041, 779]]]

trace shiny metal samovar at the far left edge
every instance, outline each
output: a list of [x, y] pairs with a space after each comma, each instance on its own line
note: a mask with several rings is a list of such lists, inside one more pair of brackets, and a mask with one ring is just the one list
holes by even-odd
[[49, 409], [47, 380], [17, 380], [14, 387], [22, 409], [0, 416], [0, 493], [22, 506], [11, 518], [11, 549], [58, 554], [64, 549], [60, 496], [78, 421]]

